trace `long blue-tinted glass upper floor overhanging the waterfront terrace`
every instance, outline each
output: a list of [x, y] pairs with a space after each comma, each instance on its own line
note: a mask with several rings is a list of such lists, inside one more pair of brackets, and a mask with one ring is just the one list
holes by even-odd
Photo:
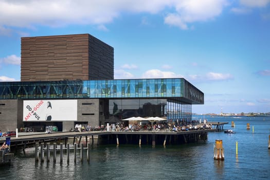
[[0, 82], [0, 99], [166, 98], [203, 104], [184, 78]]

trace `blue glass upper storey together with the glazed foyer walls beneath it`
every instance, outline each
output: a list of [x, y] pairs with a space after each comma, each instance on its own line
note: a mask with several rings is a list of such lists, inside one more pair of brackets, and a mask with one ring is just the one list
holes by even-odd
[[110, 116], [166, 116], [170, 122], [190, 121], [191, 104], [204, 104], [204, 94], [183, 78], [0, 82], [0, 100], [88, 98], [109, 99], [104, 113]]

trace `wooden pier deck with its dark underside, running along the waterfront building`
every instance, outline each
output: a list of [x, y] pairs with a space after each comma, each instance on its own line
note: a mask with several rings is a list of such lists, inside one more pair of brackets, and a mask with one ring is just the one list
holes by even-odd
[[[159, 143], [166, 145], [167, 143], [179, 144], [179, 143], [188, 143], [193, 141], [198, 141], [200, 139], [206, 140], [208, 132], [220, 131], [221, 124], [217, 123], [218, 128], [214, 129], [205, 129], [205, 130], [192, 130], [192, 131], [180, 131], [180, 132], [171, 132], [171, 131], [91, 131], [91, 132], [53, 132], [50, 134], [45, 133], [19, 133], [18, 137], [11, 137], [11, 147], [15, 146], [28, 146], [34, 145], [37, 142], [57, 142], [59, 140], [65, 140], [65, 144], [68, 138], [74, 138], [79, 142], [82, 137], [85, 137], [86, 143], [87, 139], [92, 139], [94, 143], [94, 136], [98, 139], [98, 144], [106, 143], [115, 143], [125, 144], [125, 143], [135, 143], [135, 144], [149, 144], [149, 143]], [[215, 123], [212, 123], [215, 125]], [[91, 136], [91, 138], [89, 138]], [[5, 138], [0, 139], [0, 143], [3, 143]]]

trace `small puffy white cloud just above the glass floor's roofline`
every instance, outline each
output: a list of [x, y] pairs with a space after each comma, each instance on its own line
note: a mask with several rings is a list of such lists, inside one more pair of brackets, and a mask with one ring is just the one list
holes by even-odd
[[141, 78], [183, 78], [182, 75], [177, 75], [171, 71], [161, 71], [159, 69], [151, 69], [143, 73]]

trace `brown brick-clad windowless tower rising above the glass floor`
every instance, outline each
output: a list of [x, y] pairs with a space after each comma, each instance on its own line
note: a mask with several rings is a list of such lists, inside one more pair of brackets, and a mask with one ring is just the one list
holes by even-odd
[[21, 81], [114, 79], [114, 48], [90, 34], [21, 39]]

